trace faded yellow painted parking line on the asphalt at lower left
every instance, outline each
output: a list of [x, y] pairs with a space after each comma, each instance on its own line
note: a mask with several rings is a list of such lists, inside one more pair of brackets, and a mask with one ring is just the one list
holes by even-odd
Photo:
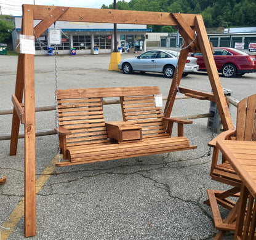
[[[44, 169], [44, 172], [42, 172], [42, 175], [40, 175], [38, 180], [36, 180], [36, 194], [38, 194], [42, 186], [44, 186], [44, 184], [50, 177], [50, 174], [54, 172], [55, 162], [57, 161], [58, 161], [58, 155], [55, 156], [54, 159], [52, 159], [49, 166], [47, 166], [46, 169]], [[9, 237], [10, 233], [12, 233], [18, 221], [20, 220], [20, 218], [22, 218], [23, 215], [24, 215], [24, 198], [20, 202], [18, 202], [18, 205], [9, 215], [8, 220], [6, 220], [6, 222], [2, 225], [4, 228], [2, 229], [0, 228], [1, 240], [6, 240]], [[9, 228], [9, 229], [6, 229], [6, 228]]]

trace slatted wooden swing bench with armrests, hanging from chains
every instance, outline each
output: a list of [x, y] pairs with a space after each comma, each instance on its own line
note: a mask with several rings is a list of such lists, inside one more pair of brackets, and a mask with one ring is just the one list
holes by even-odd
[[[183, 124], [191, 121], [164, 118], [162, 108], [155, 106], [158, 87], [106, 87], [57, 90], [60, 148], [63, 159], [56, 166], [132, 158], [171, 151], [190, 150], [183, 137]], [[119, 97], [123, 116], [115, 134], [131, 130], [128, 138], [110, 138], [103, 116], [103, 98]], [[172, 124], [178, 123], [178, 137], [171, 137]], [[111, 122], [114, 124], [114, 122]], [[129, 127], [135, 126], [135, 129]], [[136, 129], [140, 129], [137, 135]], [[119, 131], [119, 132], [118, 132]], [[127, 134], [129, 135], [129, 134]], [[127, 136], [126, 135], [126, 136]], [[140, 137], [138, 137], [140, 136]]]

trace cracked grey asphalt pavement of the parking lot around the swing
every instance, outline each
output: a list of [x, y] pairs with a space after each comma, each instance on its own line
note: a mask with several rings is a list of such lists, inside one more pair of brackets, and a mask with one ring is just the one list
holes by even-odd
[[[6, 109], [12, 108], [10, 96], [14, 94], [17, 57], [0, 56], [1, 61], [3, 58], [6, 72], [0, 74], [0, 94], [1, 109]], [[107, 70], [109, 61], [110, 55], [58, 57], [58, 87], [157, 85], [162, 95], [168, 94], [169, 79], [161, 74], [111, 72]], [[35, 62], [36, 106], [54, 105], [54, 57], [36, 56]], [[242, 87], [239, 79], [232, 79], [232, 86], [230, 79], [221, 80], [223, 87], [236, 92], [234, 97], [242, 99], [254, 93], [255, 88], [249, 86], [255, 85], [255, 76], [242, 76]], [[181, 85], [210, 92], [206, 74], [189, 74]], [[188, 114], [209, 111], [209, 102], [184, 102]], [[117, 105], [104, 106], [104, 114], [106, 121], [121, 119]], [[172, 116], [182, 115], [180, 103], [175, 103]], [[234, 107], [231, 116], [235, 121]], [[10, 132], [11, 115], [0, 117], [1, 134], [6, 134]], [[37, 130], [54, 127], [54, 111], [36, 113]], [[217, 230], [210, 207], [204, 204], [206, 190], [225, 190], [227, 186], [210, 180], [212, 156], [204, 156], [212, 135], [207, 119], [194, 119], [191, 130], [198, 145], [196, 150], [55, 168], [36, 197], [37, 235], [30, 239], [213, 239]], [[184, 131], [191, 138], [187, 127]], [[1, 141], [0, 148], [0, 174], [7, 177], [6, 184], [0, 186], [0, 225], [8, 220], [24, 194], [24, 140], [19, 139], [16, 156], [9, 156], [9, 143]], [[56, 135], [36, 138], [37, 178], [56, 154]], [[226, 214], [224, 209], [222, 214]], [[23, 220], [22, 217], [15, 225], [8, 239], [26, 239]], [[233, 233], [223, 239], [233, 239]]]

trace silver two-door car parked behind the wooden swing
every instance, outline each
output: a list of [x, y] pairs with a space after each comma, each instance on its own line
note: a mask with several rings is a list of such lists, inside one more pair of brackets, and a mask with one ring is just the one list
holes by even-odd
[[[135, 58], [121, 60], [118, 68], [124, 74], [131, 74], [133, 71], [164, 73], [166, 78], [172, 78], [178, 62], [178, 52], [173, 50], [148, 50]], [[190, 72], [198, 71], [196, 58], [188, 57], [186, 60], [184, 75]]]

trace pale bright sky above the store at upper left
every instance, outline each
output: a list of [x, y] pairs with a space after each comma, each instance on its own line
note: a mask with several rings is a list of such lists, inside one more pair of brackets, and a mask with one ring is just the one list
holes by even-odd
[[[21, 16], [22, 4], [36, 4], [36, 5], [49, 5], [49, 6], [68, 6], [68, 7], [87, 7], [100, 9], [103, 4], [109, 6], [113, 0], [0, 0], [0, 14]], [[118, 1], [117, 1], [118, 2]], [[127, 1], [129, 2], [129, 1]]]

